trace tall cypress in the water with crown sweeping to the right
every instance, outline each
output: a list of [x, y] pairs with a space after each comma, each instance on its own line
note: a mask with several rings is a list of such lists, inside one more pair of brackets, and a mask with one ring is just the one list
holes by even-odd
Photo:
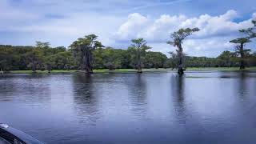
[[198, 28], [186, 28], [175, 31], [173, 34], [170, 34], [170, 38], [172, 41], [168, 41], [167, 44], [176, 46], [178, 49], [176, 50], [178, 55], [178, 74], [184, 74], [184, 66], [183, 66], [183, 48], [182, 42], [183, 40], [193, 34], [194, 32], [199, 31]]

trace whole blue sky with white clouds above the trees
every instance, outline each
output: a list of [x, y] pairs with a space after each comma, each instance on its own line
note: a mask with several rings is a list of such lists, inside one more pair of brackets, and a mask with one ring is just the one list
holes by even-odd
[[[199, 27], [183, 43], [186, 54], [215, 57], [234, 50], [229, 41], [256, 18], [254, 0], [0, 0], [0, 44], [69, 46], [97, 34], [105, 46], [125, 49], [145, 38], [154, 51], [168, 54], [170, 33]], [[256, 41], [256, 40], [254, 40]], [[256, 50], [255, 42], [247, 47]]]

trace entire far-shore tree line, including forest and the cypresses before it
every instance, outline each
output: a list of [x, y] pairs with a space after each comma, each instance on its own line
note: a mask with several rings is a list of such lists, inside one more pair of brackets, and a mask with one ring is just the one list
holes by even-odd
[[143, 38], [132, 39], [128, 49], [105, 47], [95, 34], [78, 38], [68, 48], [51, 47], [49, 42], [36, 42], [35, 46], [0, 45], [0, 69], [9, 70], [84, 70], [91, 74], [94, 69], [130, 69], [142, 73], [142, 68], [177, 68], [183, 74], [186, 67], [233, 67], [241, 70], [256, 66], [256, 53], [245, 49], [246, 43], [256, 37], [256, 21], [253, 27], [239, 30], [245, 36], [230, 40], [235, 43], [234, 51], [223, 51], [217, 58], [192, 57], [183, 53], [182, 42], [198, 28], [186, 28], [170, 34], [167, 44], [177, 47], [170, 58], [161, 52], [150, 51]]

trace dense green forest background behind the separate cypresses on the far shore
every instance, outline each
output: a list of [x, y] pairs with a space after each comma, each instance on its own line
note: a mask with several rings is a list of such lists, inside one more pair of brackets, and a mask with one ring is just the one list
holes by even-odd
[[[69, 70], [80, 69], [76, 55], [65, 47], [50, 47], [49, 43], [37, 42], [37, 46], [0, 46], [2, 70]], [[134, 50], [97, 48], [93, 52], [94, 69], [136, 68]], [[146, 51], [142, 59], [144, 68], [176, 68], [177, 54], [170, 58], [160, 52]], [[185, 56], [185, 67], [231, 67], [239, 66], [235, 52], [223, 51], [217, 58]], [[246, 66], [256, 66], [256, 53], [246, 53]]]

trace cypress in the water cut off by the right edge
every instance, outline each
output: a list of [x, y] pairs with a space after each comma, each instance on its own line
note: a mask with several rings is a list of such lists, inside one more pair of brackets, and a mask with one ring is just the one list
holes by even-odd
[[246, 54], [250, 52], [250, 49], [245, 49], [244, 46], [246, 43], [251, 42], [251, 38], [256, 37], [256, 21], [252, 21], [253, 27], [247, 28], [247, 29], [242, 29], [239, 30], [240, 33], [245, 34], [246, 37], [243, 38], [236, 38], [231, 40], [231, 43], [236, 44], [235, 46], [235, 52], [240, 55], [240, 70], [244, 70], [246, 68]]

